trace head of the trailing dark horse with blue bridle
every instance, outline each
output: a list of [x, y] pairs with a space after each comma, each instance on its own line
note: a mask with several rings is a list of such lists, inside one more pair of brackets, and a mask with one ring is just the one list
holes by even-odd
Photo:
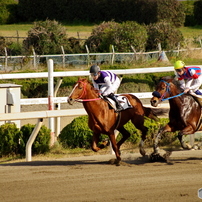
[[150, 103], [153, 107], [157, 107], [158, 104], [165, 98], [171, 95], [171, 85], [173, 79], [171, 77], [162, 77], [156, 86], [156, 90], [152, 93], [153, 97]]

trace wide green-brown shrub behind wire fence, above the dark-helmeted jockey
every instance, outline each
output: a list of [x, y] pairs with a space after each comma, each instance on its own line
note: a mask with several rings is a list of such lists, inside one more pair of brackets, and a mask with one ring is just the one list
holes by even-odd
[[91, 52], [109, 52], [113, 45], [116, 52], [130, 52], [131, 45], [137, 50], [144, 50], [147, 41], [147, 31], [136, 22], [116, 23], [103, 22], [96, 26], [91, 36], [86, 40]]

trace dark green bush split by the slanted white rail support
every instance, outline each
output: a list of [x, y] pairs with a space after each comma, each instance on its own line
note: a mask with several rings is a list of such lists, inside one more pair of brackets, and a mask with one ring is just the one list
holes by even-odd
[[[21, 127], [21, 131], [23, 134], [23, 141], [26, 145], [30, 135], [32, 134], [32, 131], [34, 130], [35, 125], [32, 124], [26, 124]], [[49, 145], [50, 145], [50, 129], [48, 129], [46, 126], [42, 126], [39, 130], [39, 133], [32, 145], [32, 153], [33, 154], [42, 154], [49, 151]], [[24, 148], [25, 151], [25, 148]], [[24, 154], [24, 153], [23, 153]]]

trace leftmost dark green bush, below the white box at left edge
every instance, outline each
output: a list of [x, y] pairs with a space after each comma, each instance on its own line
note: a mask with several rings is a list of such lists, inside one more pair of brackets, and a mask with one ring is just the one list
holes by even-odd
[[24, 146], [22, 132], [16, 124], [0, 126], [0, 157], [19, 154]]

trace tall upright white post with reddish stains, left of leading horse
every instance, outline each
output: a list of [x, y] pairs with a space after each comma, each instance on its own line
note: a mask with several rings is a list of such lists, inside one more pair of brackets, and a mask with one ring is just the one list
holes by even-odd
[[[53, 60], [48, 60], [48, 109], [54, 110], [54, 80], [53, 80]], [[50, 146], [53, 146], [55, 143], [55, 132], [54, 132], [54, 118], [49, 118], [49, 128], [51, 130], [51, 140]]]

